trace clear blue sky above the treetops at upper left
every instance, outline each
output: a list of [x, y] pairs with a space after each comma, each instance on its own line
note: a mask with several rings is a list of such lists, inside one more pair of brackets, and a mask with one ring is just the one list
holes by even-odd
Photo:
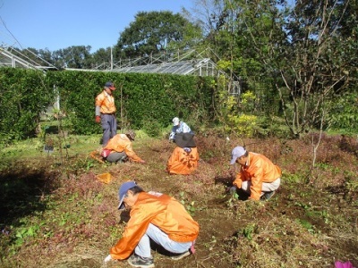
[[[0, 46], [115, 46], [138, 12], [192, 9], [192, 0], [0, 0]], [[19, 45], [20, 44], [20, 45]]]

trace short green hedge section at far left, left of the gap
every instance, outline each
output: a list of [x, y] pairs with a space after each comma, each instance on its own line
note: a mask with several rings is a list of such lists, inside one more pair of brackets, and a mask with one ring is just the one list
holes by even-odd
[[0, 68], [0, 143], [32, 136], [53, 100], [42, 71]]

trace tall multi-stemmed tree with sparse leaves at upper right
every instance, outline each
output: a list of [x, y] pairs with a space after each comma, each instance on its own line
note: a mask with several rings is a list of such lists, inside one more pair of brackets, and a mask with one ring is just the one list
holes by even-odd
[[[234, 30], [241, 62], [259, 63], [257, 73], [273, 82], [294, 137], [322, 125], [328, 101], [356, 70], [357, 18], [349, 3], [298, 1], [291, 10], [284, 1], [226, 0], [226, 9], [240, 14]], [[343, 35], [344, 23], [353, 38]]]

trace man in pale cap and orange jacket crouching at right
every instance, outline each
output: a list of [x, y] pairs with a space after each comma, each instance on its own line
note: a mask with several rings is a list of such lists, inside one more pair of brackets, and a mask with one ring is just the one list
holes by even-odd
[[248, 152], [244, 147], [234, 147], [230, 164], [239, 163], [240, 172], [236, 174], [230, 189], [237, 188], [250, 194], [251, 200], [268, 200], [273, 197], [281, 182], [281, 169], [266, 156]]

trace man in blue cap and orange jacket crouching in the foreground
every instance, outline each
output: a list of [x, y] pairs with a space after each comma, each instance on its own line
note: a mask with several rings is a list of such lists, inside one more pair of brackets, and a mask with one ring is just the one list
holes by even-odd
[[130, 220], [105, 263], [127, 259], [133, 267], [154, 267], [150, 239], [164, 247], [173, 260], [194, 253], [199, 224], [174, 197], [145, 192], [135, 181], [127, 181], [119, 188], [119, 200], [118, 209], [131, 209]]

